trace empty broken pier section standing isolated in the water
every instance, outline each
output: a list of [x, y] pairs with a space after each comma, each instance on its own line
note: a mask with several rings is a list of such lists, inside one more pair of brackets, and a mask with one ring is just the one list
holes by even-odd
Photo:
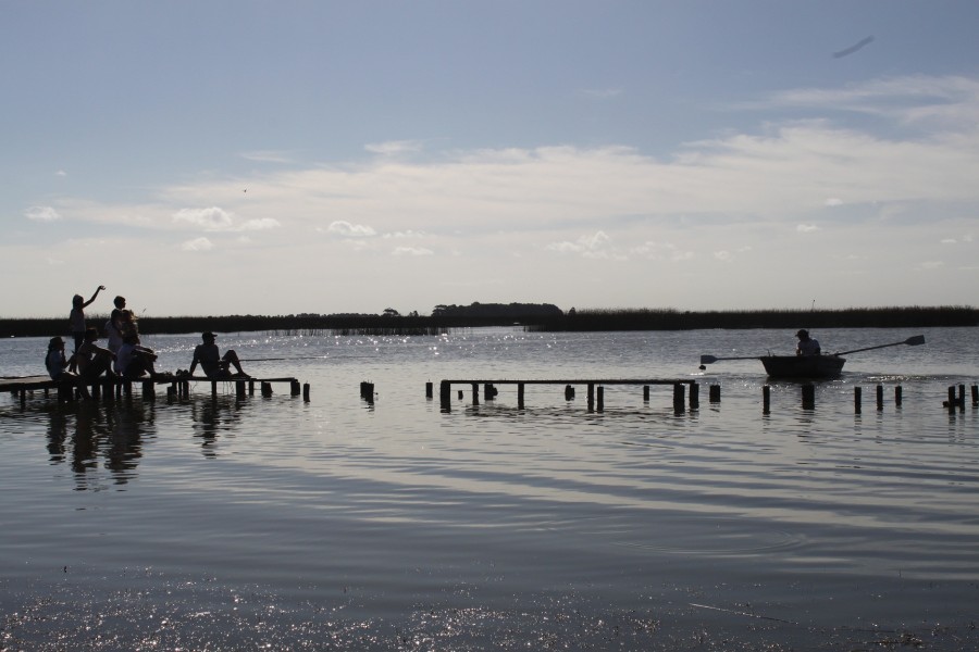
[[[438, 387], [438, 398], [444, 409], [451, 405], [453, 385], [464, 385], [472, 388], [472, 404], [480, 404], [480, 386], [483, 386], [483, 400], [492, 401], [495, 399], [498, 390], [497, 385], [516, 385], [517, 386], [517, 406], [523, 409], [525, 387], [528, 385], [562, 385], [565, 386], [565, 399], [572, 400], [574, 398], [574, 388], [584, 386], [587, 391], [587, 409], [588, 412], [602, 412], [605, 409], [605, 386], [609, 385], [634, 385], [643, 387], [643, 400], [649, 400], [649, 387], [654, 385], [668, 385], [673, 388], [673, 409], [678, 412], [684, 410], [686, 402], [686, 389], [690, 389], [690, 409], [699, 408], [699, 385], [696, 380], [687, 378], [593, 378], [593, 379], [540, 379], [540, 380], [515, 380], [512, 378], [500, 380], [443, 380]], [[718, 392], [719, 393], [719, 392]], [[459, 398], [462, 398], [462, 390], [459, 390]], [[714, 400], [714, 391], [711, 388], [711, 400]], [[719, 400], [719, 397], [718, 397]]]

